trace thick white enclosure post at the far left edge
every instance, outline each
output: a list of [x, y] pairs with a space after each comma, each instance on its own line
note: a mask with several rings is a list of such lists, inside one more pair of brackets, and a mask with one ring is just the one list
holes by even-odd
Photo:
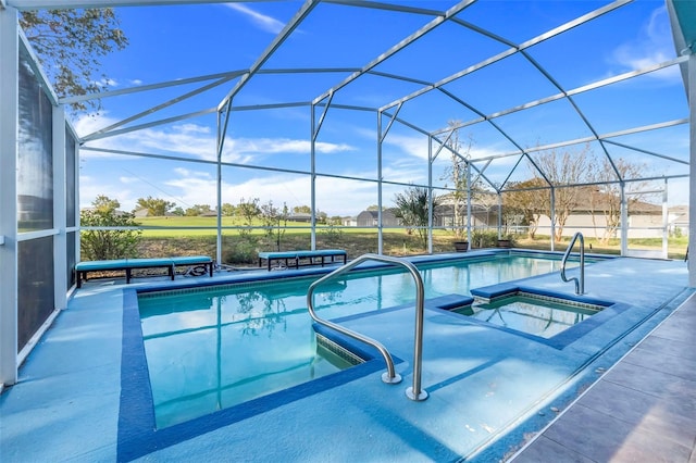
[[17, 381], [17, 11], [0, 9], [0, 385]]

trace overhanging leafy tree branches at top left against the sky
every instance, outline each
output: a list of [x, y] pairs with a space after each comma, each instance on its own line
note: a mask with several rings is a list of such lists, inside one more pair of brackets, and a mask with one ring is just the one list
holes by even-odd
[[[59, 97], [96, 93], [110, 79], [101, 74], [101, 58], [123, 50], [128, 39], [110, 8], [99, 10], [24, 11], [20, 26]], [[75, 111], [99, 109], [98, 100], [72, 104]]]

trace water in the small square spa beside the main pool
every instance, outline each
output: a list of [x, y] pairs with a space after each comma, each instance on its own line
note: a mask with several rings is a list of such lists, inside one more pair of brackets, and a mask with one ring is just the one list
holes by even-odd
[[455, 309], [462, 315], [542, 338], [552, 338], [599, 313], [604, 306], [515, 295], [489, 303]]

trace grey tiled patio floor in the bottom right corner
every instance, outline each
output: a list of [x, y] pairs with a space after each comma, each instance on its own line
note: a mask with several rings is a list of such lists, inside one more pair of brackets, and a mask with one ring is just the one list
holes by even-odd
[[696, 462], [695, 333], [691, 297], [514, 462]]

